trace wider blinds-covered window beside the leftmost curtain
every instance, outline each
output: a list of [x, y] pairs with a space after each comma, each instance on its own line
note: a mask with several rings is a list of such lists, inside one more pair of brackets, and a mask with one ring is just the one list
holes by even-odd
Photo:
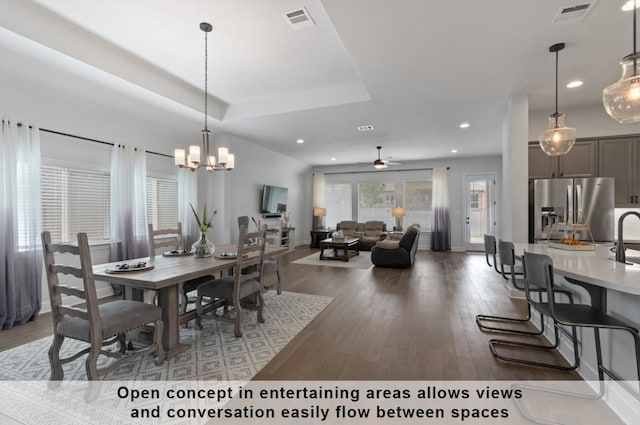
[[54, 242], [109, 240], [109, 173], [42, 166], [42, 229]]

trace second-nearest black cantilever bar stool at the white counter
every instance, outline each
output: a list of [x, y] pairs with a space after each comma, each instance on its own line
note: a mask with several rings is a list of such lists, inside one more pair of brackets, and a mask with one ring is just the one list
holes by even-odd
[[[517, 277], [517, 272], [516, 272], [516, 256], [515, 256], [515, 248], [512, 242], [508, 242], [508, 241], [503, 241], [503, 240], [499, 240], [498, 241], [498, 253], [500, 256], [500, 273], [502, 274], [502, 276], [507, 279], [510, 280], [511, 285], [515, 288], [518, 289], [520, 291], [524, 291], [525, 290], [525, 283], [523, 279], [519, 279]], [[505, 268], [508, 269], [507, 272], [505, 272]], [[509, 273], [509, 276], [507, 276], [506, 273]], [[535, 286], [534, 286], [535, 285]], [[535, 292], [538, 294], [538, 301], [541, 302], [542, 301], [542, 293], [546, 292], [547, 289], [543, 288], [541, 286], [538, 286], [537, 284], [531, 284], [531, 287], [529, 288], [529, 290], [531, 292]], [[573, 303], [573, 295], [571, 294], [571, 292], [567, 291], [567, 290], [563, 290], [563, 289], [555, 289], [554, 290], [555, 294], [563, 294], [565, 295], [568, 299], [569, 302]], [[484, 322], [502, 322], [502, 323], [514, 323], [514, 324], [518, 324], [518, 325], [524, 325], [527, 324], [529, 321], [531, 320], [531, 304], [527, 302], [527, 315], [525, 317], [504, 317], [504, 316], [490, 316], [490, 315], [486, 315], [486, 314], [479, 314], [476, 316], [476, 323], [478, 324], [478, 327], [485, 332], [502, 332], [502, 333], [512, 333], [512, 334], [517, 334], [517, 335], [526, 335], [526, 336], [538, 336], [538, 335], [542, 335], [544, 333], [544, 328], [545, 328], [545, 322], [544, 322], [544, 316], [541, 315], [540, 316], [540, 330], [536, 330], [536, 331], [525, 331], [525, 330], [521, 330], [521, 329], [511, 329], [511, 328], [504, 328], [504, 327], [497, 327], [497, 326], [489, 326], [488, 324], [484, 323]]]

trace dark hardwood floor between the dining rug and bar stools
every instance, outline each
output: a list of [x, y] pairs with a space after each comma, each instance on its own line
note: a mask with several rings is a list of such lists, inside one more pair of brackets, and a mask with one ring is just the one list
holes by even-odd
[[[291, 263], [313, 252], [301, 246], [282, 258], [283, 290], [335, 300], [256, 379], [580, 379], [493, 358], [488, 341], [498, 334], [480, 332], [475, 315], [523, 315], [526, 303], [505, 295], [482, 254], [419, 251], [409, 269]], [[0, 351], [49, 334], [50, 317], [43, 314], [0, 332]]]

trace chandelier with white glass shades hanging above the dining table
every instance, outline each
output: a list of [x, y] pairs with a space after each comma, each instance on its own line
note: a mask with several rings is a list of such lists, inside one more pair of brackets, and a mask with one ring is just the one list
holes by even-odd
[[230, 171], [235, 166], [235, 155], [229, 153], [229, 149], [225, 147], [218, 148], [218, 162], [216, 157], [211, 155], [209, 147], [209, 137], [211, 132], [207, 127], [207, 71], [208, 71], [208, 45], [207, 35], [211, 32], [212, 26], [207, 22], [200, 24], [200, 29], [204, 32], [204, 129], [202, 130], [202, 147], [198, 145], [189, 146], [189, 153], [187, 154], [184, 149], [175, 149], [173, 156], [175, 165], [180, 168], [188, 168], [191, 171], [196, 171], [199, 168], [204, 168], [207, 171]]

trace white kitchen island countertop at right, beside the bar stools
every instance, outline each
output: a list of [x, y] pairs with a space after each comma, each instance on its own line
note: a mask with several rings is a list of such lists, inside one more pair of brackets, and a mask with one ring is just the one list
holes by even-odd
[[[640, 265], [609, 259], [612, 245], [598, 245], [595, 251], [567, 251], [547, 244], [516, 243], [515, 253], [545, 254], [553, 260], [554, 271], [562, 276], [626, 294], [640, 295]], [[627, 256], [631, 254], [627, 253]]]

